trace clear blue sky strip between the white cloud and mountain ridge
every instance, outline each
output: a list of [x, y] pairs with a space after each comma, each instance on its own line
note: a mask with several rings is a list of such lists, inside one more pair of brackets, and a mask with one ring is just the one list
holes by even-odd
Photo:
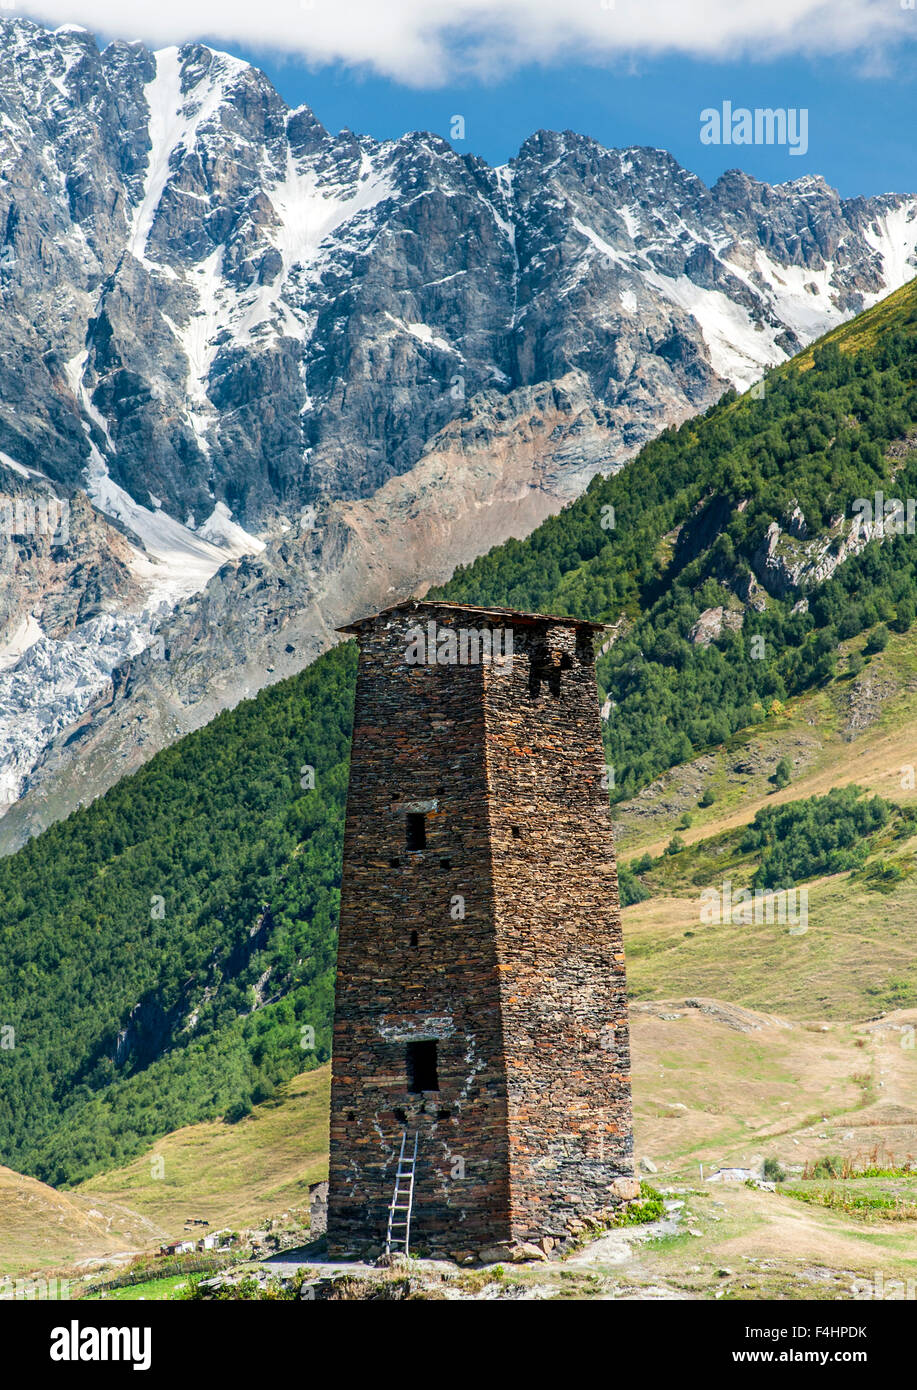
[[[914, 22], [917, 32], [917, 17]], [[310, 71], [292, 57], [233, 47], [263, 67], [286, 101], [307, 103], [332, 131], [377, 138], [429, 129], [449, 139], [465, 118], [457, 150], [503, 163], [539, 128], [574, 129], [603, 145], [654, 145], [711, 183], [742, 168], [770, 183], [823, 174], [845, 197], [917, 189], [917, 43], [902, 44], [892, 70], [867, 75], [853, 57], [709, 63], [686, 57], [632, 67], [559, 64], [522, 68], [503, 81], [422, 90], [353, 68]], [[806, 107], [809, 150], [704, 146], [700, 111], [721, 107]]]

